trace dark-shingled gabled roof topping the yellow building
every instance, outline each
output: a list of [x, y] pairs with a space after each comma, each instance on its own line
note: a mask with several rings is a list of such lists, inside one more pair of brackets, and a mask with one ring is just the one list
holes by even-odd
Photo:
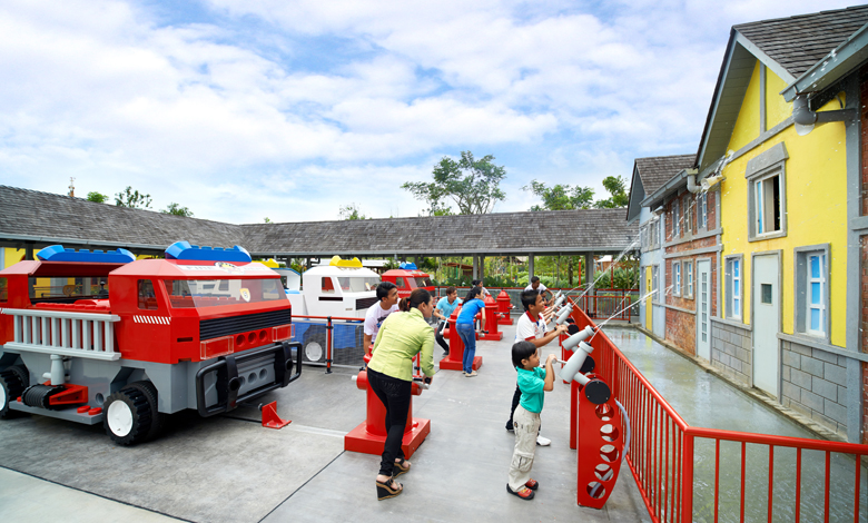
[[796, 82], [866, 23], [868, 6], [733, 26], [697, 152], [700, 175], [727, 154], [757, 60]]

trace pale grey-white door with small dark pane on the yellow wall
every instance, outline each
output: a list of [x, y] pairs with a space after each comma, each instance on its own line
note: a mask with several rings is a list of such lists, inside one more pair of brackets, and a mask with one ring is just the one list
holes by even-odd
[[753, 386], [778, 396], [780, 289], [777, 256], [753, 257]]

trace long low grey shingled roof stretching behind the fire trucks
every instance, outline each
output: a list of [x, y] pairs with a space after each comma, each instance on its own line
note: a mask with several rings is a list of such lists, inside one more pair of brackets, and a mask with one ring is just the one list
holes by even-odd
[[637, 227], [623, 209], [223, 224], [0, 186], [0, 246], [115, 248], [159, 254], [178, 240], [240, 245], [254, 256], [620, 253]]

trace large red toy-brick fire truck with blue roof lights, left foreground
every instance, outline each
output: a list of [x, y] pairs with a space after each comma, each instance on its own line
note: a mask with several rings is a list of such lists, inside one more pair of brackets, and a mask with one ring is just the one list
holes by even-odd
[[102, 423], [126, 445], [167, 414], [213, 416], [300, 376], [280, 277], [239, 246], [37, 258], [0, 270], [0, 417]]

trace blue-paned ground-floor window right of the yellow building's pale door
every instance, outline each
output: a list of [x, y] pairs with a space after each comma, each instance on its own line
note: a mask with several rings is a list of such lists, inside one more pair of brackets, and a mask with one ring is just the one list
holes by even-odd
[[796, 330], [829, 338], [829, 245], [795, 249]]

